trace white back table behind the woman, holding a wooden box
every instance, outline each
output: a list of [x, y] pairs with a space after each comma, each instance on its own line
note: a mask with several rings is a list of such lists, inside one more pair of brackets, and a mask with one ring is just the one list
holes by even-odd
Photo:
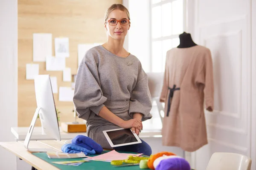
[[[29, 127], [12, 127], [11, 132], [15, 136], [16, 141], [24, 141]], [[61, 130], [60, 127], [61, 140], [72, 139], [76, 135], [85, 135], [86, 133], [66, 133]], [[162, 137], [161, 130], [143, 130], [140, 133], [140, 138], [152, 138], [152, 137]], [[49, 135], [43, 135], [41, 127], [34, 127], [32, 136], [30, 140], [52, 140], [53, 138]]]

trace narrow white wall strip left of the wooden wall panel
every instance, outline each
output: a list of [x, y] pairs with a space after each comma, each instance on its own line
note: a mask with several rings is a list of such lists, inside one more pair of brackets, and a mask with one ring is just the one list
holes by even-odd
[[[0, 0], [0, 141], [17, 126], [17, 0]], [[16, 156], [0, 147], [0, 169], [16, 170]]]

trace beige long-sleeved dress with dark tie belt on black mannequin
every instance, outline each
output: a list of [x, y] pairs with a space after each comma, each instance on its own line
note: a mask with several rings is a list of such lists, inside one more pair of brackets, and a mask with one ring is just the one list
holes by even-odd
[[162, 130], [164, 146], [193, 152], [208, 143], [204, 108], [213, 109], [213, 95], [210, 50], [199, 45], [170, 49], [166, 54], [160, 95], [160, 101], [166, 106]]

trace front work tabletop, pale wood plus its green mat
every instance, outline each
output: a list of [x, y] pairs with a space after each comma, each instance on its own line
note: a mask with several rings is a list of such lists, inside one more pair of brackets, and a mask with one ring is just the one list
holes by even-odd
[[[46, 141], [31, 141], [29, 145], [31, 148], [51, 148], [54, 151], [61, 150], [61, 146], [63, 145], [63, 141], [53, 141], [53, 140], [46, 140]], [[25, 149], [23, 146], [23, 141], [16, 141], [16, 142], [0, 142], [0, 146], [9, 150], [11, 153], [14, 153], [19, 158], [26, 161], [28, 164], [32, 166], [32, 169], [37, 170], [78, 170], [78, 169], [108, 169], [108, 170], [115, 170], [116, 168], [110, 164], [110, 162], [101, 162], [101, 161], [92, 161], [90, 163], [85, 163], [80, 165], [79, 167], [73, 166], [65, 166], [65, 165], [57, 165], [52, 164], [52, 161], [61, 161], [61, 159], [49, 159], [46, 156], [46, 153], [39, 153], [37, 156], [30, 153]], [[39, 158], [38, 158], [39, 157]], [[78, 158], [81, 160], [81, 158]], [[67, 159], [66, 159], [67, 160]], [[66, 161], [65, 160], [65, 161]], [[120, 170], [139, 170], [139, 166], [134, 167], [120, 167]], [[148, 170], [148, 169], [147, 169]]]

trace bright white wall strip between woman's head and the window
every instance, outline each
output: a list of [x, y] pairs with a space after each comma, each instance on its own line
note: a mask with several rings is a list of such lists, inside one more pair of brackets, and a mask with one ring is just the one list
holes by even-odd
[[129, 10], [131, 18], [131, 28], [124, 46], [140, 60], [145, 72], [149, 72], [151, 66], [148, 2], [149, 0], [123, 0], [123, 5]]

